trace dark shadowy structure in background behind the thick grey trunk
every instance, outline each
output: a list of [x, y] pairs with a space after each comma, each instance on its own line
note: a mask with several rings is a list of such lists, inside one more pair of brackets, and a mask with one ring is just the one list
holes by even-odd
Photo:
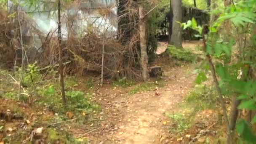
[[[182, 22], [187, 22], [194, 17], [197, 21], [197, 24], [203, 25], [208, 24], [210, 22], [210, 15], [208, 11], [200, 10], [194, 7], [186, 7], [182, 6]], [[172, 22], [173, 22], [173, 13], [169, 12], [166, 14], [165, 20], [160, 24], [160, 29], [168, 28], [168, 34], [165, 32], [161, 32], [162, 34], [158, 34], [158, 37], [163, 40], [167, 40], [168, 36], [170, 37], [172, 34]], [[198, 40], [198, 37], [195, 37], [197, 32], [193, 29], [185, 29], [182, 32], [183, 40]]]

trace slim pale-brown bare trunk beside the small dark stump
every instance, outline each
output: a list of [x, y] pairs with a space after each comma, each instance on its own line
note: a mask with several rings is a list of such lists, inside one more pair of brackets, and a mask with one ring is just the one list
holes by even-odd
[[146, 20], [145, 11], [142, 4], [139, 6], [139, 34], [141, 47], [141, 67], [143, 80], [148, 79], [148, 56], [147, 56], [147, 40], [146, 40]]

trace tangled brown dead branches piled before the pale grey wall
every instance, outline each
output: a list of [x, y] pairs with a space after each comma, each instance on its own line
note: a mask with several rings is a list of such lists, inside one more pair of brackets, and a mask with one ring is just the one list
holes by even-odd
[[[68, 37], [63, 39], [62, 47], [64, 48], [64, 72], [66, 74], [79, 74], [84, 75], [86, 72], [93, 72], [96, 75], [101, 74], [101, 63], [102, 63], [102, 47], [104, 40], [104, 77], [118, 79], [120, 77], [127, 78], [140, 78], [140, 67], [139, 67], [139, 51], [138, 51], [138, 13], [134, 3], [130, 3], [127, 0], [123, 0], [120, 3], [118, 10], [118, 39], [116, 35], [107, 37], [99, 27], [87, 27], [80, 29], [84, 33], [83, 36], [77, 36], [77, 21], [76, 16], [63, 17], [68, 27]], [[108, 9], [110, 11], [111, 8]], [[102, 9], [99, 9], [102, 12]], [[109, 12], [101, 13], [102, 17], [106, 17]], [[2, 16], [2, 15], [0, 15]], [[7, 18], [6, 16], [3, 16]], [[31, 19], [27, 19], [24, 16], [22, 27], [28, 32], [24, 33], [24, 48], [27, 51], [27, 60], [29, 63], [37, 61], [41, 67], [47, 67], [49, 65], [58, 64], [58, 40], [55, 36], [56, 31], [48, 33], [47, 36], [42, 35], [36, 28], [35, 24]], [[15, 17], [14, 17], [15, 19]], [[2, 20], [2, 19], [1, 19]], [[120, 22], [121, 21], [121, 22]], [[94, 22], [93, 22], [94, 23]], [[16, 24], [13, 24], [16, 25]], [[14, 27], [14, 26], [13, 26]], [[18, 26], [16, 26], [18, 27]], [[93, 27], [93, 28], [92, 28]], [[98, 29], [97, 29], [98, 28]], [[93, 29], [93, 30], [92, 30]], [[1, 29], [0, 35], [5, 35], [11, 31], [18, 33], [19, 29]], [[17, 31], [17, 32], [16, 32]], [[28, 36], [30, 35], [30, 36]], [[42, 46], [35, 49], [31, 45], [34, 42], [33, 37], [37, 36], [41, 40]], [[10, 61], [16, 63], [19, 60], [19, 52], [16, 51], [19, 47], [19, 36], [11, 35], [8, 37], [8, 41], [4, 47], [12, 52], [1, 51], [0, 55], [11, 54], [8, 56], [11, 58]], [[9, 46], [7, 46], [9, 45]], [[7, 61], [7, 60], [3, 60]], [[19, 63], [19, 61], [18, 61]]]

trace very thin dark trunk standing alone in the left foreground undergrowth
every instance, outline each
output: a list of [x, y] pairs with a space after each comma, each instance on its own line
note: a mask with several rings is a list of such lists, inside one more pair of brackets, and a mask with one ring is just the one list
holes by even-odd
[[58, 41], [59, 41], [59, 77], [60, 77], [60, 88], [61, 98], [63, 105], [66, 106], [64, 78], [63, 78], [63, 61], [62, 61], [62, 48], [61, 48], [61, 2], [58, 0]]

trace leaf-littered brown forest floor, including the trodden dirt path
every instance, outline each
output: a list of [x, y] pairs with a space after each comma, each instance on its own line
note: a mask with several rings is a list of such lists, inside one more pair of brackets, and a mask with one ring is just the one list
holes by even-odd
[[[160, 43], [160, 45], [166, 44]], [[185, 42], [183, 45], [186, 48], [195, 49], [200, 42]], [[118, 81], [104, 87], [95, 87], [91, 90], [93, 101], [97, 101], [101, 105], [101, 112], [94, 114], [96, 115], [94, 120], [83, 124], [74, 123], [73, 121], [76, 119], [73, 114], [67, 112], [66, 116], [70, 120], [57, 122], [56, 125], [59, 126], [49, 129], [46, 135], [48, 137], [55, 136], [56, 129], [61, 131], [64, 129], [75, 138], [85, 138], [91, 144], [188, 144], [189, 142], [211, 144], [222, 141], [224, 134], [221, 132], [223, 128], [220, 126], [222, 119], [219, 115], [219, 108], [210, 107], [208, 101], [206, 101], [207, 104], [203, 104], [205, 101], [200, 97], [201, 95], [211, 96], [211, 93], [208, 93], [208, 89], [198, 93], [194, 92], [197, 85], [194, 83], [196, 75], [192, 72], [198, 64], [173, 61], [168, 56], [160, 56], [153, 65], [162, 67], [163, 77], [152, 78], [147, 83], [129, 83], [127, 85], [125, 81], [123, 85], [122, 81]], [[0, 83], [3, 84], [5, 78], [6, 75], [0, 79], [2, 80]], [[77, 82], [75, 89], [88, 91], [84, 85], [81, 81]], [[3, 85], [3, 89], [6, 89], [5, 86]], [[195, 98], [191, 96], [191, 93], [194, 93]], [[192, 99], [188, 99], [188, 97]], [[9, 139], [5, 139], [5, 141], [12, 141], [11, 135], [18, 133], [17, 129], [19, 129], [19, 131], [28, 133], [24, 134], [23, 141], [32, 141], [31, 129], [35, 131], [40, 127], [48, 128], [56, 122], [56, 118], [53, 120], [53, 117], [57, 117], [57, 114], [49, 112], [45, 108], [28, 106], [10, 99], [0, 99], [0, 114], [2, 115], [0, 118], [10, 111], [25, 115], [21, 119], [8, 123], [3, 123], [2, 120], [0, 122], [0, 139], [4, 139], [7, 135]], [[213, 105], [215, 105], [215, 101], [213, 101]], [[202, 107], [198, 108], [197, 106]], [[38, 124], [38, 120], [40, 120], [40, 124]], [[29, 123], [37, 123], [37, 125], [30, 129], [20, 128], [21, 125], [30, 125]], [[1, 135], [2, 124], [6, 133]], [[58, 139], [60, 138], [58, 137]], [[81, 143], [83, 144], [83, 142]]]

